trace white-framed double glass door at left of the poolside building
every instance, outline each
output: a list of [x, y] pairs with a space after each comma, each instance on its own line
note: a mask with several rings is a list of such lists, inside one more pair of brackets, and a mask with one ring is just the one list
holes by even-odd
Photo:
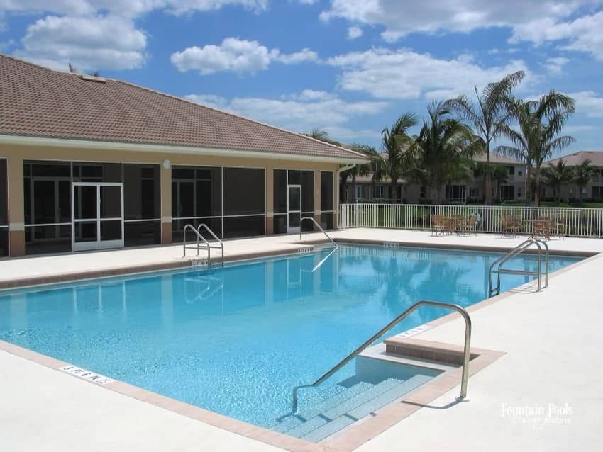
[[73, 183], [73, 251], [123, 247], [123, 184]]

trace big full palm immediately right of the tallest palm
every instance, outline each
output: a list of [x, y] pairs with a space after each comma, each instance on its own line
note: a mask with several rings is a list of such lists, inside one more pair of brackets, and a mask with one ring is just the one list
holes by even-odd
[[511, 115], [519, 130], [505, 124], [501, 132], [514, 146], [502, 145], [497, 152], [526, 162], [526, 199], [531, 202], [531, 181], [534, 184], [534, 203], [540, 204], [542, 165], [553, 154], [575, 141], [568, 135], [559, 137], [563, 125], [574, 113], [574, 100], [557, 91], [550, 91], [538, 101], [514, 100], [510, 105]]

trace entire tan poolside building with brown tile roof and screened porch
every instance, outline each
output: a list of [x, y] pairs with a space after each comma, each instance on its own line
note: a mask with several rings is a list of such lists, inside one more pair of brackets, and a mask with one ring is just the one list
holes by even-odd
[[[0, 256], [336, 222], [362, 154], [124, 81], [0, 55]], [[304, 222], [304, 229], [311, 224]]]

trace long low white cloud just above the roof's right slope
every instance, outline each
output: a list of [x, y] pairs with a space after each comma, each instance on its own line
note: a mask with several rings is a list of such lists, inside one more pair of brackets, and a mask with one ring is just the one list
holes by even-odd
[[[316, 93], [320, 94], [315, 95]], [[343, 128], [350, 119], [376, 115], [388, 105], [387, 102], [348, 102], [333, 95], [327, 96], [323, 91], [311, 90], [281, 99], [243, 97], [228, 101], [226, 98], [204, 94], [189, 94], [185, 97], [247, 118], [301, 131], [315, 127], [327, 130]]]

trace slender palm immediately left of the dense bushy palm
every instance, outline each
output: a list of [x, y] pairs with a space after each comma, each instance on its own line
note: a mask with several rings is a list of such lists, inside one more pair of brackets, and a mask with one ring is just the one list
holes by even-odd
[[404, 113], [391, 128], [386, 127], [381, 132], [381, 145], [383, 151], [387, 152], [385, 170], [389, 176], [390, 198], [394, 203], [397, 203], [398, 199], [398, 179], [408, 174], [411, 168], [411, 156], [406, 149], [411, 145], [412, 139], [407, 132], [414, 125], [414, 113]]

